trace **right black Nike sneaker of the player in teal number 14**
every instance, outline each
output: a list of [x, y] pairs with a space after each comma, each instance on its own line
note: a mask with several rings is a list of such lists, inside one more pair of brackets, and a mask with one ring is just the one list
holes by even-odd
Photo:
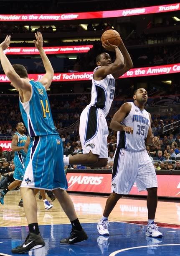
[[70, 236], [68, 238], [61, 239], [60, 243], [73, 244], [73, 243], [82, 242], [87, 239], [88, 239], [88, 236], [87, 236], [86, 232], [84, 231], [84, 229], [79, 231], [79, 230], [75, 230], [74, 228], [72, 228]]

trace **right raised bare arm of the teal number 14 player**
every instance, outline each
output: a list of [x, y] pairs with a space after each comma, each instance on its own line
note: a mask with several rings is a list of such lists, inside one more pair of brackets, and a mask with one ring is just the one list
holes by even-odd
[[53, 71], [51, 62], [49, 61], [49, 59], [43, 49], [43, 36], [42, 36], [41, 32], [37, 32], [37, 34], [35, 33], [35, 38], [36, 38], [36, 40], [34, 40], [35, 47], [39, 51], [41, 59], [43, 60], [44, 68], [46, 70], [46, 74], [41, 78], [40, 82], [41, 82], [41, 84], [43, 84], [43, 86], [47, 90], [53, 80], [54, 71]]

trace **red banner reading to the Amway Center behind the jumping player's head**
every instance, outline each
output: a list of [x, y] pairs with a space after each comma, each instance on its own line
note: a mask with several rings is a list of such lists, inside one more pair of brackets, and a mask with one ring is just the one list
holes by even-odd
[[[172, 73], [180, 73], [180, 63], [162, 65], [162, 66], [152, 66], [147, 68], [132, 68], [127, 71], [120, 78], [132, 78], [138, 76], [157, 76], [166, 75]], [[64, 81], [83, 81], [91, 80], [93, 72], [77, 72], [77, 73], [55, 73], [53, 76], [53, 82], [64, 82]], [[43, 74], [29, 74], [30, 79], [40, 80]], [[10, 82], [8, 77], [5, 75], [0, 75], [0, 83]]]

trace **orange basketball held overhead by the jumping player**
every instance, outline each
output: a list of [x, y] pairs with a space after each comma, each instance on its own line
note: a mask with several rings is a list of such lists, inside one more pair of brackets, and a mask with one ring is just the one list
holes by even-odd
[[106, 30], [101, 36], [101, 42], [105, 42], [106, 40], [109, 41], [110, 44], [117, 45], [121, 43], [121, 37], [119, 33], [114, 29]]

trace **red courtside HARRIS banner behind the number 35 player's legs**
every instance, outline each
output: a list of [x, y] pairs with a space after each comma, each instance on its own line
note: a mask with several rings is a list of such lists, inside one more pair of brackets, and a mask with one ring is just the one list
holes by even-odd
[[[111, 174], [67, 173], [68, 191], [111, 193]], [[157, 175], [158, 196], [180, 197], [180, 175]], [[147, 195], [138, 192], [134, 183], [130, 195]]]

